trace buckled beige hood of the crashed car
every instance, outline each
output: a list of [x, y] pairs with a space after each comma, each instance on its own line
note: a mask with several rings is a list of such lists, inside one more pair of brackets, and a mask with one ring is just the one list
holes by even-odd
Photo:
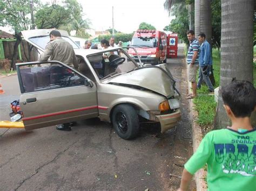
[[130, 84], [143, 87], [170, 98], [174, 95], [173, 83], [159, 67], [139, 68], [129, 73], [114, 76], [102, 83]]

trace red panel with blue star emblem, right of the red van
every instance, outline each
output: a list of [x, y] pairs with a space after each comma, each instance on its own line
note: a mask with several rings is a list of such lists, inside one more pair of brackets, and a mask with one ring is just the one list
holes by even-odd
[[167, 35], [167, 58], [177, 58], [178, 54], [178, 34]]

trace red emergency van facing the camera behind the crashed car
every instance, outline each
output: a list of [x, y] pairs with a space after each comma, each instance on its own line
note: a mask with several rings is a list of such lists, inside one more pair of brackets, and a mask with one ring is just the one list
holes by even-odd
[[[140, 60], [144, 63], [157, 65], [166, 63], [166, 34], [156, 30], [137, 30], [130, 46], [136, 48]], [[128, 51], [129, 55], [139, 62], [139, 59], [132, 48]]]

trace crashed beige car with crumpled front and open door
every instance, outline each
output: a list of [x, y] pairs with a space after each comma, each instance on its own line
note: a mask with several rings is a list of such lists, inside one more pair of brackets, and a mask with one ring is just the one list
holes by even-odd
[[[43, 52], [50, 31], [22, 34]], [[82, 49], [60, 32], [75, 50], [78, 70], [59, 61], [16, 64], [26, 130], [99, 117], [121, 138], [131, 139], [141, 121], [159, 123], [161, 132], [177, 124], [180, 95], [166, 64], [143, 66], [123, 48]]]

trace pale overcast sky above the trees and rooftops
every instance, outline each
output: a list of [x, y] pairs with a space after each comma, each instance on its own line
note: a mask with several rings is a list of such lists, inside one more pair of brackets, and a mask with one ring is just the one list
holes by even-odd
[[[171, 17], [164, 9], [165, 0], [77, 1], [83, 6], [84, 18], [91, 20], [91, 28], [96, 31], [112, 28], [112, 6], [114, 7], [114, 29], [120, 32], [136, 31], [142, 22], [149, 23], [157, 30], [163, 31], [164, 27], [171, 22]], [[51, 2], [51, 0], [41, 0], [41, 2]], [[6, 28], [4, 30], [6, 31]]]

